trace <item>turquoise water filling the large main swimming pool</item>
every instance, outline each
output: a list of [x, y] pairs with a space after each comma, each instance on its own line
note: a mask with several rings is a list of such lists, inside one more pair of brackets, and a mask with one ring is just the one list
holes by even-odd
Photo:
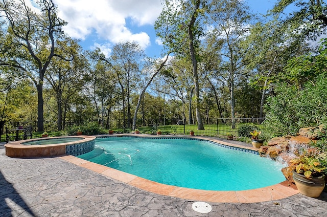
[[162, 184], [203, 190], [248, 190], [285, 181], [282, 163], [190, 139], [96, 139], [79, 158]]

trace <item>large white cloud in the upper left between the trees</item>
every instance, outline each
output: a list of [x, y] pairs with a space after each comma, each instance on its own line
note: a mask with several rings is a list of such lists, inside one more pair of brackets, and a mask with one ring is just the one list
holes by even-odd
[[[69, 36], [85, 40], [96, 32], [99, 40], [112, 44], [135, 41], [143, 49], [150, 46], [150, 37], [135, 29], [153, 25], [162, 8], [160, 0], [54, 0], [54, 3], [59, 16], [68, 22], [63, 30]], [[126, 18], [132, 20], [134, 31], [126, 27]]]

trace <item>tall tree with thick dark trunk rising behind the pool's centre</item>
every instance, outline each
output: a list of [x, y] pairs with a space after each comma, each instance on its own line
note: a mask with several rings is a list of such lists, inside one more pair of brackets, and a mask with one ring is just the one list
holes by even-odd
[[[198, 129], [204, 129], [200, 113], [198, 77], [198, 46], [202, 33], [198, 17], [203, 13], [203, 7], [204, 2], [200, 0], [191, 2], [184, 0], [171, 2], [166, 0], [164, 9], [162, 9], [155, 22], [156, 34], [163, 40], [165, 46], [180, 57], [185, 57], [187, 52], [189, 53], [193, 68]], [[188, 50], [185, 50], [186, 46]]]

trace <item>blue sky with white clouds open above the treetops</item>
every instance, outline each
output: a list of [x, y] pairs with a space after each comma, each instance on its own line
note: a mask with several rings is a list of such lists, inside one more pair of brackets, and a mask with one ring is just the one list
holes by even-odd
[[[35, 1], [35, 0], [32, 0]], [[276, 0], [245, 0], [254, 13], [265, 14]], [[68, 22], [64, 31], [80, 40], [86, 50], [99, 47], [107, 56], [117, 42], [136, 41], [148, 56], [160, 57], [154, 21], [160, 0], [54, 0], [59, 16]]]

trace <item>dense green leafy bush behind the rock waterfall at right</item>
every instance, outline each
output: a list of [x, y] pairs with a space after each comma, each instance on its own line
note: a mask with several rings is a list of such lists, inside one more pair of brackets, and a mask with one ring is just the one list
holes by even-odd
[[275, 136], [295, 135], [301, 127], [316, 126], [327, 114], [327, 78], [318, 77], [303, 89], [282, 84], [267, 99], [266, 121]]

